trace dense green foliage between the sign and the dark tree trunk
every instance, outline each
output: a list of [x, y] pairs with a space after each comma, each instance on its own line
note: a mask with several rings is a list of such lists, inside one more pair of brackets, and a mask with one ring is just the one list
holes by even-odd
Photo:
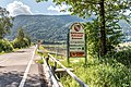
[[97, 21], [93, 23], [84, 23], [85, 32], [87, 35], [87, 52], [91, 55], [99, 55], [100, 40], [99, 40], [99, 29]]

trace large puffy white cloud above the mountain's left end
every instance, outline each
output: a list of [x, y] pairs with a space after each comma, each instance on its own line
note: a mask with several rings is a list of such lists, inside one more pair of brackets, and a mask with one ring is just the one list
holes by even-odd
[[14, 1], [7, 5], [7, 10], [10, 12], [11, 16], [20, 14], [32, 14], [31, 8], [21, 1]]

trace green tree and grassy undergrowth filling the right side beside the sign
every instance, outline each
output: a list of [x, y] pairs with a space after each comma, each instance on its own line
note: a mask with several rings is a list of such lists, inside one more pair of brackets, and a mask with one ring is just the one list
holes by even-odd
[[[48, 0], [36, 0], [37, 2]], [[52, 0], [56, 5], [67, 4], [72, 15], [83, 18], [95, 16], [92, 22], [83, 23], [87, 35], [87, 65], [83, 60], [61, 61], [74, 69], [74, 73], [88, 87], [130, 87], [131, 86], [131, 48], [116, 50], [122, 42], [121, 20], [131, 24], [130, 1], [127, 0]], [[115, 4], [112, 4], [115, 3]], [[62, 11], [67, 11], [62, 10]], [[127, 29], [127, 28], [123, 28]], [[70, 76], [60, 78], [63, 87], [81, 87]]]

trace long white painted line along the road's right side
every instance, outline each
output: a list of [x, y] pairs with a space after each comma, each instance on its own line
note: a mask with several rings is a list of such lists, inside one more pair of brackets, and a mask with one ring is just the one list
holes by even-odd
[[[35, 47], [35, 50], [37, 49], [37, 46]], [[24, 76], [19, 85], [19, 87], [24, 87], [24, 84], [25, 84], [25, 80], [27, 78], [27, 74], [28, 74], [28, 71], [29, 71], [29, 67], [31, 67], [31, 64], [33, 62], [33, 59], [34, 59], [34, 55], [35, 55], [35, 50], [33, 51], [33, 55], [32, 55], [32, 59], [29, 60], [28, 64], [27, 64], [27, 67], [25, 70], [25, 73], [24, 73]]]

